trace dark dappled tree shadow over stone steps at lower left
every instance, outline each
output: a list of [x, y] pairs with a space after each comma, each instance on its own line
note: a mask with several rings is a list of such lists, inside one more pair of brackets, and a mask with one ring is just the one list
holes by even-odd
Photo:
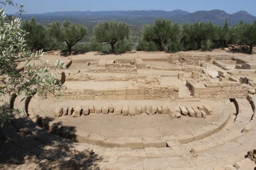
[[[41, 123], [46, 125], [52, 121], [52, 118], [46, 117]], [[54, 129], [53, 133], [76, 140], [75, 127], [64, 126], [61, 122], [56, 123], [54, 127], [59, 129]], [[28, 128], [31, 133], [24, 133], [24, 128]], [[74, 160], [79, 169], [99, 169], [98, 162], [102, 161], [102, 157], [94, 154], [92, 150], [83, 149], [78, 143], [48, 133], [28, 117], [14, 119], [0, 130], [2, 137], [6, 137], [0, 147], [0, 164], [24, 164], [23, 158], [26, 155], [36, 155], [39, 161]]]

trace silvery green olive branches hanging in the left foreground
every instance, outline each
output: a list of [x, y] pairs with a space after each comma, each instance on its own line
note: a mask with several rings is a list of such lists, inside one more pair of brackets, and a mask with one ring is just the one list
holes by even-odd
[[[40, 96], [52, 94], [55, 99], [60, 99], [63, 87], [54, 70], [64, 68], [64, 63], [56, 61], [53, 71], [49, 72], [47, 61], [40, 59], [42, 50], [33, 53], [25, 49], [27, 33], [20, 29], [20, 24], [19, 18], [8, 17], [4, 10], [0, 10], [0, 97], [7, 98], [14, 93], [34, 96], [37, 93]], [[39, 64], [30, 64], [32, 60], [39, 60]], [[17, 67], [20, 61], [26, 61], [24, 70]], [[8, 119], [6, 111], [2, 111], [6, 108], [4, 105], [4, 102], [0, 103], [0, 125]], [[9, 115], [11, 113], [9, 110]]]

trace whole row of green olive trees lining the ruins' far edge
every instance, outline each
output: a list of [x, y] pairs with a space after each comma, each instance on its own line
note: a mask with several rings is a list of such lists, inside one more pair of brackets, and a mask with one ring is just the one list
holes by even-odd
[[[85, 37], [85, 26], [70, 23], [62, 24], [53, 21], [47, 26], [36, 23], [32, 18], [25, 20], [22, 29], [30, 32], [26, 35], [30, 49], [67, 49], [80, 51], [187, 51], [224, 48], [228, 44], [247, 45], [248, 53], [256, 45], [256, 21], [228, 26], [194, 22], [179, 25], [171, 20], [156, 19], [154, 24], [144, 25], [141, 37], [130, 34], [130, 27], [125, 22], [105, 21], [94, 27], [90, 38]], [[66, 43], [66, 44], [65, 44]]]

